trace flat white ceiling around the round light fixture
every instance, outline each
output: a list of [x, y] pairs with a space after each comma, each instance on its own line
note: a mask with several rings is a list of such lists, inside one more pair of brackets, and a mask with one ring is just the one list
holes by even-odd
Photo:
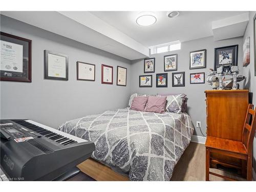
[[245, 13], [246, 11], [181, 11], [175, 18], [167, 11], [154, 12], [157, 22], [152, 26], [138, 26], [136, 11], [93, 11], [105, 23], [115, 27], [144, 46], [154, 46], [170, 41], [181, 42], [212, 36], [212, 22]]

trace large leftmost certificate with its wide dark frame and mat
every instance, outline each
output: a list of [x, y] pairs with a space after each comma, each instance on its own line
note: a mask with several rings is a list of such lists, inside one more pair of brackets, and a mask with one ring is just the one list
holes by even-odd
[[31, 82], [32, 40], [0, 32], [0, 80]]

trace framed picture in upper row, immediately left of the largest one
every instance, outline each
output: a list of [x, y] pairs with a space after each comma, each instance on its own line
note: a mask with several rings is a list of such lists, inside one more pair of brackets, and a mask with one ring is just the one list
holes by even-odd
[[206, 49], [190, 52], [189, 69], [206, 68]]

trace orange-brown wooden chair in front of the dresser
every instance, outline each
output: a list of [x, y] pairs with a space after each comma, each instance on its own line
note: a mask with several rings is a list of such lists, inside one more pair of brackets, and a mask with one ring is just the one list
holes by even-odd
[[[252, 179], [252, 144], [256, 129], [256, 110], [253, 110], [253, 104], [249, 104], [247, 110], [247, 116], [244, 122], [242, 142], [228, 139], [222, 139], [218, 137], [207, 136], [205, 147], [206, 147], [206, 177], [205, 180], [209, 181], [209, 174], [215, 175], [226, 180], [234, 180], [226, 176], [222, 176], [216, 173], [209, 172], [210, 168], [210, 153], [214, 152], [229, 157], [242, 159], [246, 162], [243, 166], [242, 172], [246, 172], [246, 179], [251, 181]], [[244, 169], [244, 170], [243, 170]]]

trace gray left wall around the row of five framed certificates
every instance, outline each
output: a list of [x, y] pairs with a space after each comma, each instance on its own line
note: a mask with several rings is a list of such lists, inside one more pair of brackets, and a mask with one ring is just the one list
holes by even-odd
[[[29, 118], [57, 127], [67, 120], [127, 105], [130, 60], [3, 15], [1, 31], [32, 40], [32, 82], [1, 81], [1, 118]], [[68, 81], [44, 79], [45, 49], [69, 55]], [[96, 81], [77, 81], [76, 61], [95, 64]], [[101, 63], [114, 67], [113, 85], [101, 84]], [[126, 87], [116, 86], [116, 66], [127, 68]]]

